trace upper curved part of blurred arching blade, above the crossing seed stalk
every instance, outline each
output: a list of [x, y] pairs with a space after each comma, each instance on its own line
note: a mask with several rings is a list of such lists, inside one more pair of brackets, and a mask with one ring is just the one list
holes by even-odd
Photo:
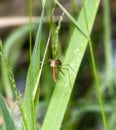
[[[33, 24], [32, 30], [34, 30], [36, 27], [37, 25]], [[10, 55], [9, 58], [12, 60], [10, 61], [12, 66], [14, 66], [16, 63], [17, 57], [19, 56], [24, 41], [27, 38], [27, 34], [29, 33], [29, 29], [29, 25], [19, 27], [13, 33], [11, 33], [11, 35], [9, 35], [4, 43], [4, 49], [7, 55]]]

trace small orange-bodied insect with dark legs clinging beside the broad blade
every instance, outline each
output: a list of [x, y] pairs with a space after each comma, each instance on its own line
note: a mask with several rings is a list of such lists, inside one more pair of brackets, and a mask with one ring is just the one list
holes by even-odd
[[61, 70], [62, 62], [59, 59], [49, 59], [50, 67], [52, 67], [52, 74], [54, 81], [57, 80], [57, 69], [64, 75]]

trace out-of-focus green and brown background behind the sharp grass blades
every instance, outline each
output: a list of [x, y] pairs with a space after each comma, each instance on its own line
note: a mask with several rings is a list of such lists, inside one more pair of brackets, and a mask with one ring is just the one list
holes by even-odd
[[[105, 1], [105, 0], [104, 0]], [[81, 0], [64, 0], [62, 5], [77, 18], [82, 2]], [[92, 31], [93, 50], [97, 66], [98, 78], [102, 96], [104, 99], [105, 112], [108, 118], [110, 130], [116, 127], [116, 1], [110, 0], [108, 9], [108, 19], [104, 17], [106, 7], [103, 0], [99, 5]], [[41, 58], [44, 53], [47, 34], [49, 31], [48, 7], [44, 19], [42, 33]], [[56, 7], [54, 20], [58, 24], [58, 19], [62, 11]], [[41, 14], [41, 1], [33, 0], [33, 33], [32, 43], [34, 44], [37, 22]], [[109, 21], [109, 23], [105, 23]], [[13, 72], [18, 89], [23, 96], [25, 80], [29, 65], [29, 1], [27, 0], [1, 0], [0, 1], [0, 37], [4, 43], [8, 60], [13, 67]], [[74, 26], [68, 18], [64, 16], [59, 32], [59, 44], [63, 57], [68, 47]], [[106, 37], [105, 37], [106, 36]], [[109, 39], [107, 39], [109, 37]], [[78, 38], [78, 37], [77, 37]], [[109, 41], [108, 41], [109, 40]], [[110, 45], [106, 47], [106, 42]], [[55, 82], [52, 77], [52, 70], [49, 67], [48, 59], [52, 57], [49, 46], [46, 65], [41, 77], [40, 106], [38, 124], [41, 125], [47, 106], [49, 104]], [[0, 63], [0, 92], [9, 101], [12, 107], [14, 100], [12, 89], [7, 82], [4, 69]], [[2, 119], [1, 119], [2, 120]], [[0, 121], [2, 123], [2, 121]], [[87, 48], [78, 77], [72, 92], [70, 103], [65, 114], [61, 127], [62, 130], [103, 130], [101, 121], [101, 111], [95, 91], [95, 83], [91, 66], [90, 52]]]

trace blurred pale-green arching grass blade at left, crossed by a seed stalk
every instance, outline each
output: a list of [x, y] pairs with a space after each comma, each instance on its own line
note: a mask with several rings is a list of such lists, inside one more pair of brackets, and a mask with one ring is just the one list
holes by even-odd
[[[35, 29], [36, 25], [32, 26], [32, 29]], [[12, 68], [15, 67], [19, 54], [21, 52], [21, 48], [24, 44], [26, 36], [29, 32], [29, 26], [23, 26], [16, 29], [11, 35], [8, 36], [4, 43], [4, 49]], [[9, 57], [10, 56], [10, 57]], [[13, 99], [13, 92], [11, 89], [11, 85], [9, 82], [9, 77], [4, 68], [4, 65], [1, 63], [1, 72], [2, 72], [2, 80], [4, 85], [5, 94], [8, 98]]]

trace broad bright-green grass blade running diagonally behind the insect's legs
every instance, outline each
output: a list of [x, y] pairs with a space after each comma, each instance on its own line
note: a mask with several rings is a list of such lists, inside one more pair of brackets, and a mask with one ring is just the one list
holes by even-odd
[[[86, 15], [89, 23], [89, 32], [92, 30], [99, 2], [99, 0], [94, 0], [91, 2], [90, 0], [86, 0], [85, 2]], [[81, 10], [77, 23], [81, 30], [88, 32], [83, 9]], [[87, 42], [88, 39], [80, 32], [80, 30], [75, 28], [63, 64], [70, 65], [70, 67], [73, 68], [76, 73], [79, 70], [79, 66], [87, 47]], [[70, 68], [69, 73], [66, 70], [64, 73], [65, 76], [60, 75], [59, 80], [56, 83], [55, 90], [43, 122], [42, 130], [59, 130], [61, 127], [61, 123], [76, 79], [76, 74]]]

